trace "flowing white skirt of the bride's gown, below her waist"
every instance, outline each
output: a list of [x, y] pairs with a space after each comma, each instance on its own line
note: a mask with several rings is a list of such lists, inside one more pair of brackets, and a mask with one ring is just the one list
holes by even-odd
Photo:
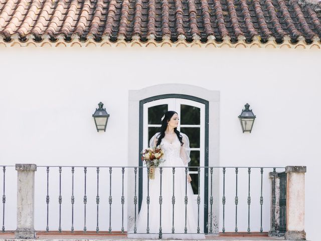
[[[174, 162], [172, 164], [176, 164], [176, 166], [177, 163], [182, 163], [181, 160], [179, 160], [179, 162], [178, 160], [172, 161]], [[171, 163], [167, 161], [166, 164], [169, 165]], [[180, 166], [183, 166], [183, 163]], [[146, 169], [143, 169], [143, 172], [144, 175], [147, 176]], [[163, 168], [162, 205], [159, 204], [159, 197], [161, 196], [160, 176], [159, 168], [156, 168], [155, 179], [149, 180], [150, 203], [148, 207], [147, 185], [144, 185], [141, 209], [136, 220], [136, 233], [133, 233], [134, 227], [132, 226], [128, 230], [128, 237], [146, 239], [159, 238], [159, 230], [161, 228], [162, 239], [204, 239], [205, 235], [203, 233], [198, 233], [197, 205], [196, 202], [193, 201], [192, 186], [190, 183], [186, 182], [185, 168], [175, 168], [174, 185], [173, 168]], [[173, 187], [175, 195], [174, 207], [172, 203]], [[185, 204], [186, 195], [188, 201], [187, 205]], [[147, 219], [149, 233], [147, 233]], [[199, 223], [201, 226], [201, 219], [199, 219]], [[173, 227], [174, 233], [172, 232]], [[187, 233], [185, 233], [185, 227]], [[203, 230], [200, 227], [200, 232], [202, 231]]]

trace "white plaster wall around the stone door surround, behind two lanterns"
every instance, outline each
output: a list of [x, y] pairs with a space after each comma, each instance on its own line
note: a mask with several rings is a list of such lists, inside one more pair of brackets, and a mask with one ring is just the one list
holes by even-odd
[[[319, 183], [321, 154], [319, 58], [319, 51], [303, 50], [2, 48], [0, 162], [126, 166], [128, 90], [161, 83], [219, 90], [221, 166], [306, 165], [305, 231], [307, 239], [316, 240], [318, 216], [313, 213], [321, 210], [319, 194], [311, 187]], [[96, 132], [91, 116], [99, 101], [110, 113], [106, 133]], [[237, 118], [246, 102], [257, 116], [250, 135], [242, 134]], [[35, 227], [42, 230], [45, 172], [39, 168], [36, 174]], [[64, 172], [64, 181], [70, 180], [67, 172], [70, 169]], [[51, 230], [58, 229], [57, 173], [57, 169], [50, 173]], [[119, 173], [115, 176], [120, 178]], [[107, 188], [108, 174], [107, 169], [102, 171], [103, 188]], [[83, 185], [83, 171], [77, 175], [77, 185]], [[88, 208], [95, 210], [95, 170], [89, 175]], [[120, 191], [114, 190], [115, 199], [120, 200]], [[63, 229], [71, 225], [70, 192], [69, 185], [63, 193]], [[109, 194], [100, 192], [102, 202], [107, 202]], [[246, 193], [247, 186], [239, 192]], [[82, 196], [83, 190], [77, 190], [77, 210], [83, 209]], [[268, 196], [264, 201], [269, 213]], [[252, 202], [257, 204], [259, 199]], [[101, 211], [107, 213], [107, 206]], [[88, 230], [96, 227], [91, 212]], [[7, 229], [15, 229], [16, 215], [6, 214]], [[82, 220], [82, 214], [77, 215], [76, 220]], [[82, 225], [79, 221], [75, 229]]]

